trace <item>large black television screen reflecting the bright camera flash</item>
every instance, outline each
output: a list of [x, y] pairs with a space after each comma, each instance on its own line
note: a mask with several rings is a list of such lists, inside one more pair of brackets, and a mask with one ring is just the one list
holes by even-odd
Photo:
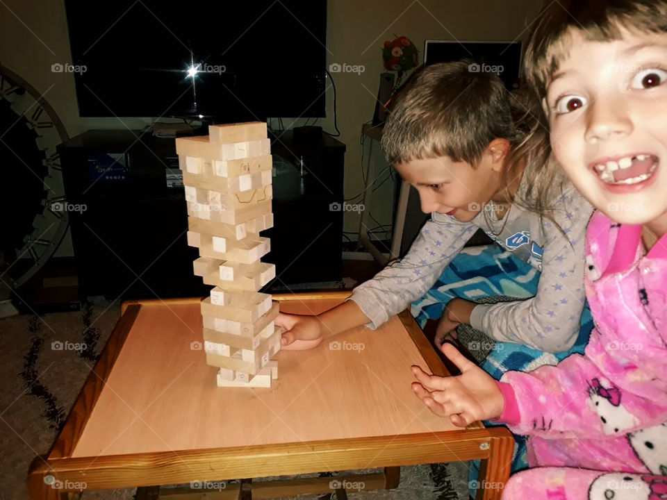
[[[323, 117], [326, 0], [65, 0], [82, 117]], [[55, 66], [55, 65], [54, 65]]]

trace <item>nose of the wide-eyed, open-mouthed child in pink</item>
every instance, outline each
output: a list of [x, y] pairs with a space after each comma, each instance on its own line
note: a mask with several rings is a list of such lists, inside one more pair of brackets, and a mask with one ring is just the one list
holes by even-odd
[[586, 141], [596, 142], [623, 137], [631, 133], [632, 129], [632, 120], [622, 98], [600, 95], [588, 105]]

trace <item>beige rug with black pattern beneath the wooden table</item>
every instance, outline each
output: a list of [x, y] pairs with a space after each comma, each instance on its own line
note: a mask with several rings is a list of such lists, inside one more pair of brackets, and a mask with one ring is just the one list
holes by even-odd
[[[119, 317], [118, 303], [87, 303], [77, 312], [0, 319], [2, 500], [28, 498], [28, 465], [48, 453]], [[126, 500], [134, 494], [134, 488], [91, 490], [82, 498]], [[468, 462], [402, 467], [395, 490], [349, 492], [348, 497], [467, 500]], [[336, 495], [298, 498], [334, 500]]]

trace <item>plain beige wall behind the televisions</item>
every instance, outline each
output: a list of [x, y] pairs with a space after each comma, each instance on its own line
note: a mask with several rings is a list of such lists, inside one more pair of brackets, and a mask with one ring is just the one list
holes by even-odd
[[[338, 90], [340, 140], [347, 144], [345, 197], [363, 188], [360, 170], [361, 124], [372, 118], [379, 73], [383, 71], [381, 47], [394, 35], [406, 35], [420, 49], [424, 40], [514, 40], [525, 36], [527, 19], [536, 14], [540, 0], [329, 0], [327, 65], [363, 65], [359, 75], [334, 73]], [[174, 8], [183, 8], [182, 5]], [[63, 0], [4, 0], [0, 6], [0, 64], [26, 78], [51, 103], [70, 136], [90, 128], [142, 128], [148, 119], [81, 118], [76, 106], [72, 74], [52, 73], [53, 63], [71, 62]], [[334, 131], [334, 93], [327, 92], [325, 130]], [[283, 120], [292, 124], [292, 120]], [[302, 124], [297, 120], [296, 124]], [[366, 143], [368, 151], [368, 142]], [[375, 149], [379, 151], [379, 148]], [[374, 154], [376, 172], [386, 168]], [[372, 215], [390, 224], [391, 192], [387, 182], [374, 194]], [[356, 213], [345, 215], [345, 230], [356, 231]], [[65, 242], [59, 254], [69, 254]]]

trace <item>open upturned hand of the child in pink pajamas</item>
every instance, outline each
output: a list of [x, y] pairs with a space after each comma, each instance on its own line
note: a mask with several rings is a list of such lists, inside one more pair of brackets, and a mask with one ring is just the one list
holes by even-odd
[[477, 420], [497, 419], [502, 415], [504, 397], [491, 375], [468, 360], [452, 344], [440, 349], [459, 367], [461, 375], [429, 375], [418, 366], [412, 372], [418, 382], [412, 389], [431, 412], [450, 417], [452, 424], [465, 427]]

